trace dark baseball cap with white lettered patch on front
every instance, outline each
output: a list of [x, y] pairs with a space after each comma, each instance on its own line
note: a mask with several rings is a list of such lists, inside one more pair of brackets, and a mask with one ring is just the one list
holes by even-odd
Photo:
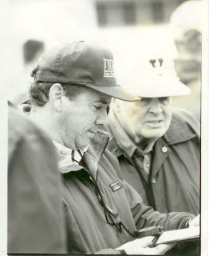
[[112, 52], [84, 41], [62, 43], [42, 55], [31, 74], [37, 82], [81, 85], [132, 102], [139, 98], [116, 84]]

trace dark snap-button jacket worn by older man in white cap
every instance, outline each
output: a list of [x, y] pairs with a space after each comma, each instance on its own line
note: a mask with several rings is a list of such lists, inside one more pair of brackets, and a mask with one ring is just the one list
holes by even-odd
[[137, 165], [136, 146], [113, 113], [109, 114], [108, 131], [113, 137], [108, 149], [118, 158], [124, 180], [145, 204], [165, 213], [199, 213], [200, 127], [195, 118], [183, 110], [173, 110], [168, 132], [157, 139], [152, 150], [149, 175]]

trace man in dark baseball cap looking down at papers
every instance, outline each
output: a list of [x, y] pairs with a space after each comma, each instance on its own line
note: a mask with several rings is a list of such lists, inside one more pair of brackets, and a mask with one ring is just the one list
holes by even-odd
[[149, 248], [153, 237], [136, 239], [135, 231], [182, 229], [199, 217], [145, 206], [105, 150], [108, 133], [99, 126], [108, 124], [111, 98], [139, 99], [117, 85], [112, 53], [82, 41], [62, 44], [42, 56], [32, 75], [30, 117], [57, 149], [68, 254], [164, 254], [172, 248]]

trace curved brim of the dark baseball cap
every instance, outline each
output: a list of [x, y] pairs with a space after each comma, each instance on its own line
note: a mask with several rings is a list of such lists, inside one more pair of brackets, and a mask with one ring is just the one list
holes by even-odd
[[127, 90], [124, 90], [124, 88], [122, 88], [121, 86], [93, 86], [89, 84], [86, 84], [85, 86], [88, 86], [89, 88], [97, 90], [103, 94], [112, 96], [113, 98], [119, 98], [126, 102], [136, 102], [140, 100], [140, 98], [137, 97], [135, 94], [129, 93]]

